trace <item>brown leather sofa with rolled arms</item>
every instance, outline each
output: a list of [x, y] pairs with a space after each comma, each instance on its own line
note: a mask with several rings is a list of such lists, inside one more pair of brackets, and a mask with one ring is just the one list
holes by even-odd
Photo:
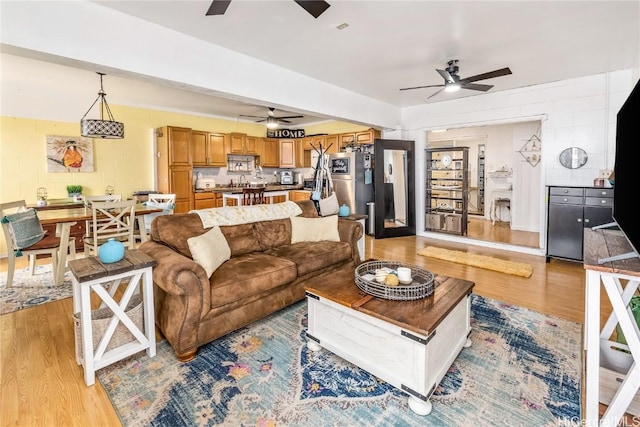
[[[318, 216], [312, 201], [296, 202], [304, 217]], [[187, 239], [209, 229], [195, 213], [164, 215], [151, 224], [140, 249], [153, 270], [156, 324], [181, 361], [198, 347], [304, 299], [305, 282], [360, 262], [362, 225], [338, 220], [340, 242], [291, 244], [291, 221], [278, 219], [220, 227], [230, 249], [211, 278], [191, 258]]]

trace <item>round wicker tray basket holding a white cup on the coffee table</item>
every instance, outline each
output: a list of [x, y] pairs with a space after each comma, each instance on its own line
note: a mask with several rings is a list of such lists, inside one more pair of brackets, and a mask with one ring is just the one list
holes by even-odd
[[[412, 282], [408, 285], [388, 286], [378, 283], [375, 279], [376, 270], [387, 268], [396, 271], [398, 267], [408, 267], [411, 269]], [[433, 273], [415, 265], [402, 264], [395, 261], [367, 261], [356, 267], [355, 281], [358, 288], [374, 297], [389, 300], [410, 301], [426, 298], [433, 295], [435, 281]]]

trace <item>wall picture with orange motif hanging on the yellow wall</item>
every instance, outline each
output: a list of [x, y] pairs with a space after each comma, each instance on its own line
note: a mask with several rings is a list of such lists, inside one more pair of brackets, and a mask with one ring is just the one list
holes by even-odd
[[93, 172], [93, 140], [47, 135], [47, 172]]

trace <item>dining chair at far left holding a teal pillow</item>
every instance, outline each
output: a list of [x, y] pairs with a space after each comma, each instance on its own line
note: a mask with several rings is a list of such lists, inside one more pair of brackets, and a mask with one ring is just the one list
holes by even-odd
[[[24, 221], [28, 221], [29, 224], [22, 222], [22, 226], [17, 226], [16, 223], [12, 223], [11, 219], [15, 218], [15, 214], [27, 212], [27, 205], [24, 200], [18, 200], [15, 202], [0, 203], [0, 221], [2, 223], [2, 231], [5, 238], [5, 247], [7, 248], [7, 287], [10, 287], [13, 283], [13, 276], [16, 266], [16, 257], [26, 255], [29, 257], [29, 271], [31, 275], [35, 272], [36, 256], [37, 255], [49, 255], [51, 257], [51, 264], [53, 269], [53, 277], [57, 277], [58, 271], [58, 252], [60, 248], [60, 238], [54, 236], [47, 236], [46, 231], [42, 230], [42, 224], [37, 217], [37, 213], [33, 217], [26, 218]], [[20, 243], [20, 234], [24, 231], [25, 227], [31, 230], [42, 231], [40, 240], [35, 243], [29, 244], [26, 247], [22, 247]], [[33, 234], [33, 231], [29, 232]], [[37, 237], [36, 237], [37, 238]], [[69, 244], [64, 250], [69, 251], [70, 260], [75, 259], [76, 256], [76, 243], [75, 238], [69, 239]]]

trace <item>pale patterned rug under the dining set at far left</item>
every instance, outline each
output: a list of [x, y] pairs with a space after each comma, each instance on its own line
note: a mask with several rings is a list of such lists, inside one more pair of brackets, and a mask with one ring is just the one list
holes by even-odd
[[71, 273], [67, 272], [64, 283], [56, 286], [51, 264], [37, 265], [33, 276], [28, 268], [16, 269], [11, 287], [7, 287], [7, 272], [0, 274], [0, 314], [13, 313], [72, 295]]

